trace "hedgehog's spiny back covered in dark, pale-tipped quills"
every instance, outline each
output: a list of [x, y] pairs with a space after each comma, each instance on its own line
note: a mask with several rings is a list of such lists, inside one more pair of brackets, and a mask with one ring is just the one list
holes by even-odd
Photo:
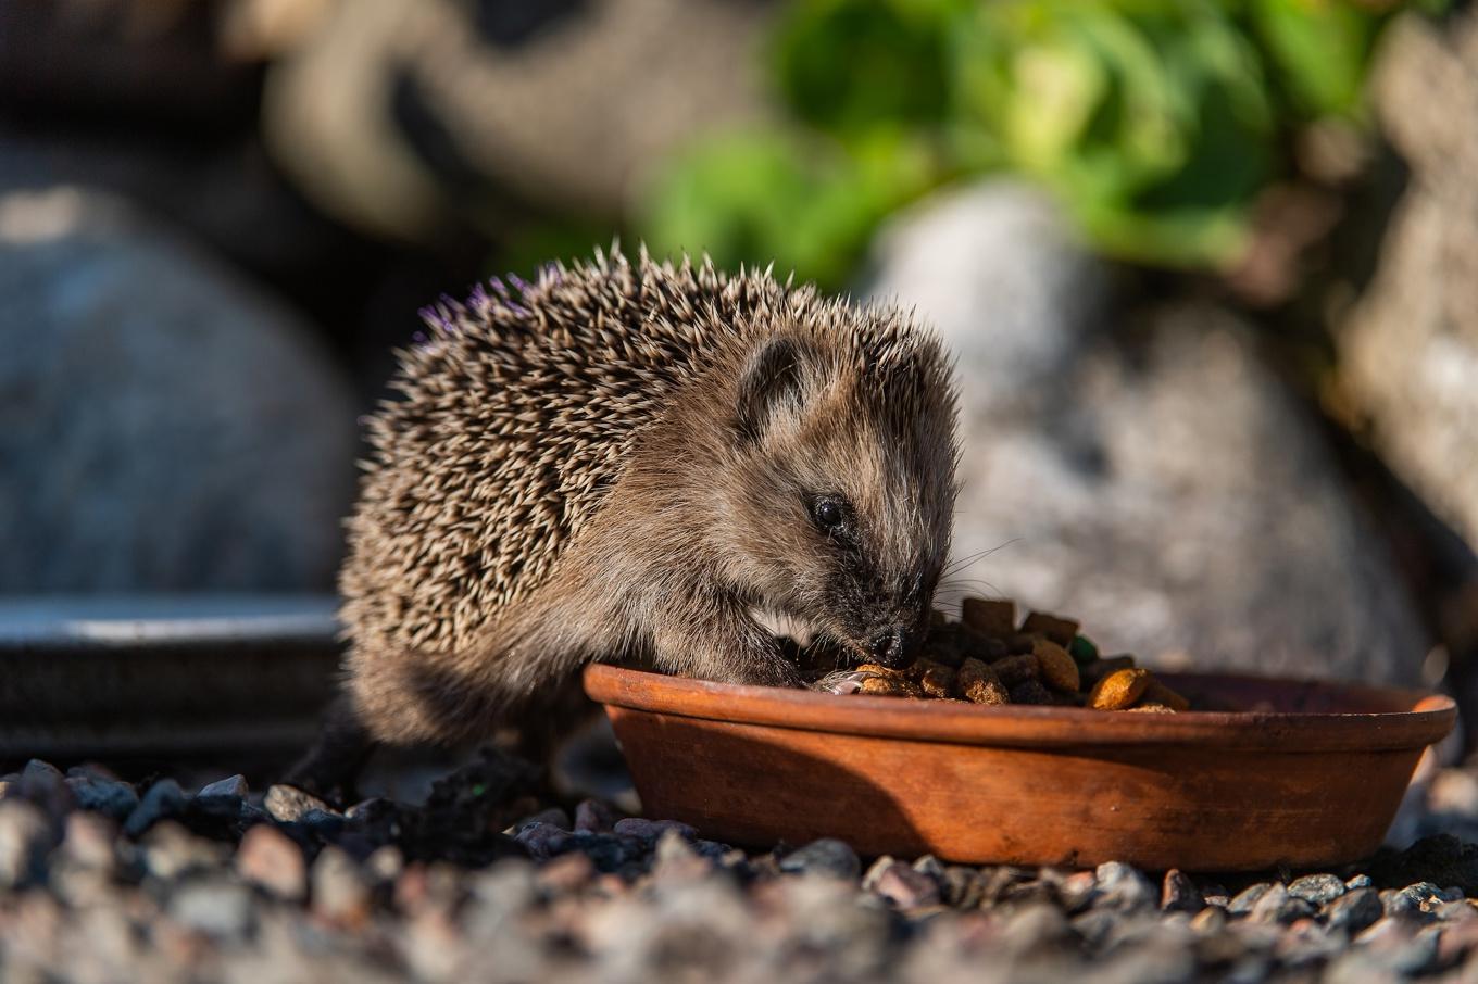
[[355, 644], [454, 652], [544, 584], [641, 431], [783, 295], [613, 253], [423, 312], [430, 337], [368, 421], [340, 576]]

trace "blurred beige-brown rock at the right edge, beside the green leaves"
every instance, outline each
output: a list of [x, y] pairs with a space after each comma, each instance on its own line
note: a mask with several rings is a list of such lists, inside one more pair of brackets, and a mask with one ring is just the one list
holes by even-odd
[[1339, 335], [1341, 378], [1376, 451], [1478, 550], [1478, 15], [1388, 34], [1382, 126], [1410, 185]]

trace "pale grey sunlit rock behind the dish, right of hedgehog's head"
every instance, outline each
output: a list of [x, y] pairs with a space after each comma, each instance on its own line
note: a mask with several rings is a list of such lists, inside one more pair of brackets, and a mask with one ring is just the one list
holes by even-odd
[[1114, 313], [1012, 186], [925, 202], [876, 269], [959, 356], [956, 594], [1080, 616], [1162, 665], [1414, 677], [1426, 638], [1386, 550], [1237, 318]]

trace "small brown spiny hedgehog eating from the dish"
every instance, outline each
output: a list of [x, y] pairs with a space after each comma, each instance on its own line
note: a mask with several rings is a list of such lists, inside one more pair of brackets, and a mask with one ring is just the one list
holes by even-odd
[[956, 495], [931, 331], [644, 248], [510, 279], [423, 310], [367, 418], [341, 731], [477, 740], [590, 660], [795, 686], [785, 637], [912, 657]]

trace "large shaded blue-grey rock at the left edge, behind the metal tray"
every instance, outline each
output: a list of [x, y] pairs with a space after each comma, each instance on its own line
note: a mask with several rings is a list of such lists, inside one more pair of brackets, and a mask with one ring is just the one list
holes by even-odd
[[121, 204], [0, 195], [0, 592], [333, 585], [352, 399], [307, 325]]

